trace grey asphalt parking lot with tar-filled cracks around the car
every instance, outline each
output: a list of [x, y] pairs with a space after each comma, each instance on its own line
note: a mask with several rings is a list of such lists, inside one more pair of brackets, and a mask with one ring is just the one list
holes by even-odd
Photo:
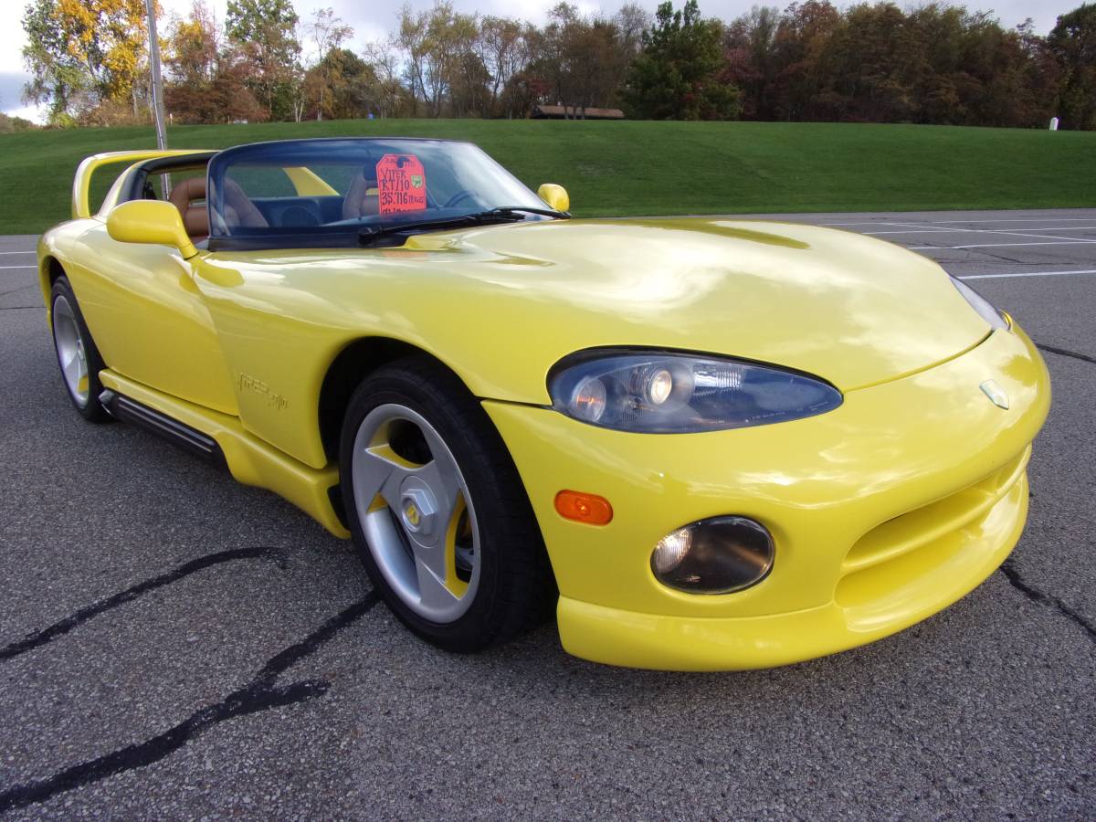
[[349, 544], [57, 374], [34, 238], [0, 238], [0, 814], [11, 818], [1096, 815], [1096, 209], [788, 219], [938, 260], [1054, 385], [1030, 520], [943, 614], [774, 671], [455, 657]]

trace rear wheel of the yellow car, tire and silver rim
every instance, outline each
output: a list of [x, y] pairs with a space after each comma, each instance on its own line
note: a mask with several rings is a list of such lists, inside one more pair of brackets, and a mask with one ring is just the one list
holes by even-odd
[[99, 381], [99, 372], [104, 367], [103, 358], [91, 339], [67, 277], [57, 278], [49, 300], [54, 349], [69, 399], [85, 420], [104, 422], [110, 418], [99, 401], [103, 390], [103, 384]]

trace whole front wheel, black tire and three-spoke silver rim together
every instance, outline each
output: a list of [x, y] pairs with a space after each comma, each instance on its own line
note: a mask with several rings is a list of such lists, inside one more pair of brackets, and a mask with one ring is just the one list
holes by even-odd
[[517, 470], [447, 369], [411, 357], [366, 379], [343, 422], [340, 468], [362, 561], [420, 637], [478, 651], [550, 613], [551, 570]]

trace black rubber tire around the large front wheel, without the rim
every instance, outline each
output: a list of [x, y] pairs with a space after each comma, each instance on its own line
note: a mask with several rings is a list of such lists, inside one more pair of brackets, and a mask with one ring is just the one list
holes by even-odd
[[[411, 409], [433, 426], [452, 453], [476, 511], [478, 586], [467, 610], [454, 621], [430, 621], [400, 598], [378, 568], [355, 504], [355, 438], [369, 412], [390, 403]], [[552, 614], [556, 582], [517, 469], [487, 412], [443, 365], [426, 356], [408, 357], [365, 379], [343, 420], [339, 464], [346, 518], [362, 562], [388, 607], [414, 633], [444, 650], [470, 653], [501, 644]]]

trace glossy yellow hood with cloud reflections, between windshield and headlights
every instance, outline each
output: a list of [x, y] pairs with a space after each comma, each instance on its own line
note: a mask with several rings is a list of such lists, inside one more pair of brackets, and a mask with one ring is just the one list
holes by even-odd
[[[989, 326], [934, 262], [860, 235], [711, 218], [522, 222], [400, 249], [222, 254], [253, 298], [433, 352], [480, 396], [547, 401], [574, 351], [657, 346], [761, 361], [843, 391], [931, 367]], [[285, 313], [285, 311], [279, 311]]]

